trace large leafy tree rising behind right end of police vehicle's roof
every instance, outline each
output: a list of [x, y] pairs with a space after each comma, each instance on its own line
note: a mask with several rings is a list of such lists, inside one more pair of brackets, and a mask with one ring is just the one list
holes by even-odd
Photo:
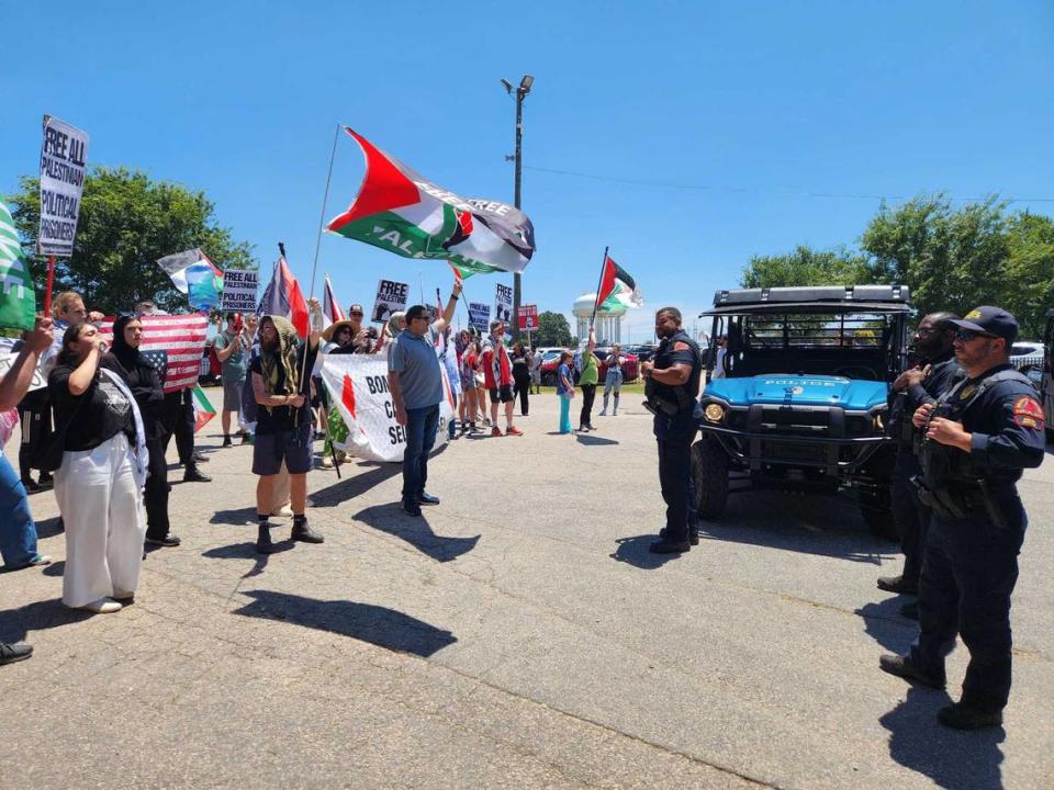
[[962, 315], [979, 304], [1005, 304], [1010, 257], [1006, 203], [990, 198], [953, 210], [944, 195], [883, 205], [861, 238], [871, 282], [910, 286], [920, 315]]

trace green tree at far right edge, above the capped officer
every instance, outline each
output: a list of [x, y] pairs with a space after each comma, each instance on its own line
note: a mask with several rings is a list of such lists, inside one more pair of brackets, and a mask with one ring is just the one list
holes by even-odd
[[1005, 306], [1022, 337], [1043, 337], [1046, 311], [1054, 308], [1054, 221], [1021, 212], [1007, 224]]

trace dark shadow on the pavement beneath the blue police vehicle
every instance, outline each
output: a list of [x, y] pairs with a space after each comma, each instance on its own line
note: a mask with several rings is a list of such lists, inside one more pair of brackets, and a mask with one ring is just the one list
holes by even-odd
[[898, 552], [874, 537], [846, 497], [754, 490], [729, 497], [720, 521], [700, 520], [700, 537], [882, 565]]

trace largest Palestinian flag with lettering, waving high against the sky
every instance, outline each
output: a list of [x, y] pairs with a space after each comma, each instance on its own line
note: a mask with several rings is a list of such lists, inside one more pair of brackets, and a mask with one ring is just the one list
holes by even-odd
[[355, 202], [326, 229], [404, 258], [450, 262], [464, 278], [519, 272], [535, 252], [527, 215], [505, 203], [460, 198], [425, 180], [345, 127], [366, 157]]

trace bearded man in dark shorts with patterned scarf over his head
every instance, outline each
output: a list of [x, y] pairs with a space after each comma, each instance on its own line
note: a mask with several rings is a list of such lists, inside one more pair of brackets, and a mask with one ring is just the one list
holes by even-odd
[[[312, 319], [321, 324], [318, 300], [311, 300]], [[274, 551], [269, 517], [273, 487], [282, 463], [289, 470], [293, 529], [290, 540], [322, 543], [323, 537], [307, 526], [307, 472], [312, 466], [311, 371], [318, 353], [321, 332], [313, 330], [303, 342], [284, 316], [260, 318], [260, 354], [249, 365], [253, 395], [257, 404], [253, 474], [259, 532], [256, 550]]]

